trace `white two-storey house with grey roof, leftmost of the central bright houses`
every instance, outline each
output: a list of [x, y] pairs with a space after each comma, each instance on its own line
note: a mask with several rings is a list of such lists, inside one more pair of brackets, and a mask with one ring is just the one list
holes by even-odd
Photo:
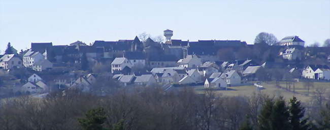
[[127, 58], [117, 57], [111, 63], [111, 72], [114, 73], [115, 71], [121, 71], [125, 67], [132, 68], [133, 64], [131, 64]]

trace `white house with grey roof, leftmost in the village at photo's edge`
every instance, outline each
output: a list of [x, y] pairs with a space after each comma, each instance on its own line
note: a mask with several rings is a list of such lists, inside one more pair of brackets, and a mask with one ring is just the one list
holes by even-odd
[[22, 67], [22, 60], [15, 54], [7, 54], [0, 58], [0, 68], [12, 69]]

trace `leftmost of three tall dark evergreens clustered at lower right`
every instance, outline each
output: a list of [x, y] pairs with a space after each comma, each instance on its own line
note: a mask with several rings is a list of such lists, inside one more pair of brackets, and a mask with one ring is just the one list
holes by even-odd
[[269, 130], [270, 126], [270, 117], [274, 107], [274, 101], [267, 99], [265, 104], [263, 104], [260, 114], [258, 115], [258, 127], [260, 130]]

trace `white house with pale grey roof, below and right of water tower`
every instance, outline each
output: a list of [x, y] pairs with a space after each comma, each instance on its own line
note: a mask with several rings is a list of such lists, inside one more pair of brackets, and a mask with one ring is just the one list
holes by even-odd
[[187, 55], [186, 58], [180, 59], [178, 62], [180, 67], [184, 68], [196, 68], [202, 65], [202, 59], [196, 55]]

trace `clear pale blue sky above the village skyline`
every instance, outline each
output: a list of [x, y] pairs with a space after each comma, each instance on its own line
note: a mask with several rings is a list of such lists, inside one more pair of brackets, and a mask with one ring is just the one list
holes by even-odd
[[31, 42], [69, 45], [77, 40], [134, 39], [174, 31], [172, 39], [243, 40], [260, 32], [279, 40], [298, 35], [313, 44], [330, 38], [330, 0], [75, 1], [0, 0], [0, 50]]

